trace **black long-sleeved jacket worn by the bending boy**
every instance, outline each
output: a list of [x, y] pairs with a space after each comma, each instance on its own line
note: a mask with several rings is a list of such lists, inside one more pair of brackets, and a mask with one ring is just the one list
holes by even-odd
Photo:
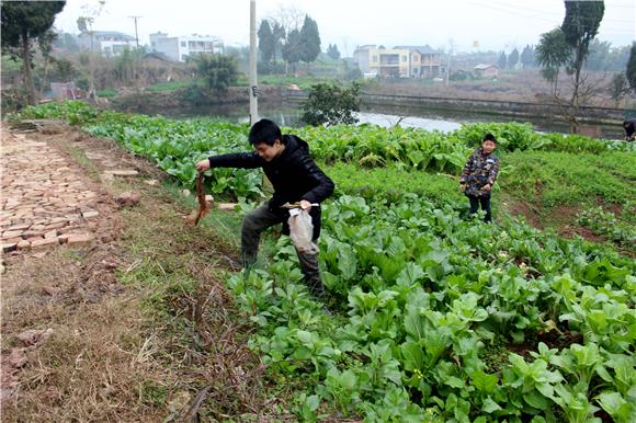
[[[238, 152], [213, 156], [211, 168], [263, 168], [265, 175], [274, 186], [274, 195], [269, 202], [271, 211], [281, 215], [284, 222], [283, 232], [288, 233], [285, 217], [287, 210], [281, 208], [285, 203], [296, 203], [306, 199], [309, 203], [321, 203], [333, 194], [334, 184], [318, 168], [311, 156], [309, 146], [294, 135], [283, 135], [285, 149], [276, 159], [266, 162], [258, 152]], [[311, 207], [309, 211], [314, 224], [314, 239], [320, 233], [320, 207]]]

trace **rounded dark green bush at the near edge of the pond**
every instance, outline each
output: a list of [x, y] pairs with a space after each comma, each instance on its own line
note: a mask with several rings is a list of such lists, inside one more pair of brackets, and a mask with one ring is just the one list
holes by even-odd
[[355, 82], [349, 88], [333, 83], [315, 84], [303, 104], [300, 118], [313, 126], [355, 124], [357, 117], [354, 113], [360, 111], [359, 92], [360, 85]]

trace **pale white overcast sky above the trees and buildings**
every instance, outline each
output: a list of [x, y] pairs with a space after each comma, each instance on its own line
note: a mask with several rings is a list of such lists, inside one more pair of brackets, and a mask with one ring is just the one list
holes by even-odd
[[[93, 28], [135, 36], [139, 42], [161, 31], [169, 35], [215, 35], [226, 45], [249, 44], [249, 0], [105, 0]], [[56, 27], [78, 33], [77, 19], [96, 0], [68, 0]], [[423, 45], [456, 50], [512, 50], [536, 44], [538, 36], [561, 24], [563, 0], [257, 0], [257, 20], [294, 8], [318, 23], [322, 49], [336, 43], [350, 56], [356, 45]], [[601, 41], [624, 46], [636, 41], [636, 1], [606, 0]], [[478, 48], [474, 47], [478, 42]]]

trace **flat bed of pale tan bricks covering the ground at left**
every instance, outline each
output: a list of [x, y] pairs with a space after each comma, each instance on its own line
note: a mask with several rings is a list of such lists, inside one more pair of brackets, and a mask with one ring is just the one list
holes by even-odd
[[2, 130], [0, 167], [0, 241], [2, 250], [41, 250], [67, 243], [90, 244], [88, 219], [98, 195], [87, 188], [86, 175], [46, 142]]

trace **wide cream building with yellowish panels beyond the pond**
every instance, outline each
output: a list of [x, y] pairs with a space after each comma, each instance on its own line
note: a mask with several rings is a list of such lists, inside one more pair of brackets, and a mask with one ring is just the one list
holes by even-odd
[[435, 78], [444, 72], [441, 52], [430, 46], [384, 48], [364, 45], [353, 52], [353, 61], [365, 76]]

